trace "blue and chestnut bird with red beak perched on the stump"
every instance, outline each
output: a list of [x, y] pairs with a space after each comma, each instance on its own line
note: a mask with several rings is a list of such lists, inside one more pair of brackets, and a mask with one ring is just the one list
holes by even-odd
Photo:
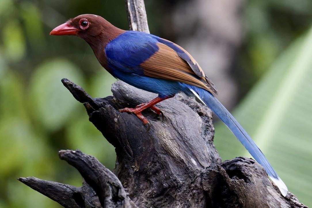
[[183, 92], [206, 105], [232, 131], [251, 156], [266, 170], [283, 196], [288, 189], [246, 130], [214, 95], [218, 90], [197, 61], [181, 46], [156, 35], [126, 31], [113, 26], [103, 17], [83, 14], [54, 28], [50, 35], [76, 35], [92, 48], [100, 64], [115, 78], [134, 87], [158, 94], [155, 99], [120, 112], [135, 114], [144, 125], [147, 108], [157, 115], [163, 112], [154, 105]]

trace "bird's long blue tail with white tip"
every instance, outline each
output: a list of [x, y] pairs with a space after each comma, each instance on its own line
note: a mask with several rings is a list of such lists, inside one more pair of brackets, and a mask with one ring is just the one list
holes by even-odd
[[285, 183], [276, 174], [264, 154], [257, 147], [255, 142], [252, 141], [243, 127], [231, 115], [231, 113], [210, 92], [188, 84], [187, 87], [199, 100], [201, 100], [201, 102], [203, 102], [203, 104], [209, 107], [210, 110], [216, 114], [225, 125], [227, 125], [241, 144], [245, 146], [251, 156], [255, 158], [255, 160], [264, 167], [264, 169], [266, 169], [266, 173], [270, 176], [271, 180], [277, 185], [277, 187], [279, 187], [283, 196], [286, 196], [288, 189]]

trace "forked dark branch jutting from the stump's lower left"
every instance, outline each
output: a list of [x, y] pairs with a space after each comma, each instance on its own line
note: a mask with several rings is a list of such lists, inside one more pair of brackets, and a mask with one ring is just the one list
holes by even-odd
[[84, 178], [82, 187], [35, 177], [18, 180], [64, 207], [137, 207], [116, 175], [96, 158], [79, 150], [61, 150], [59, 156], [80, 172]]

